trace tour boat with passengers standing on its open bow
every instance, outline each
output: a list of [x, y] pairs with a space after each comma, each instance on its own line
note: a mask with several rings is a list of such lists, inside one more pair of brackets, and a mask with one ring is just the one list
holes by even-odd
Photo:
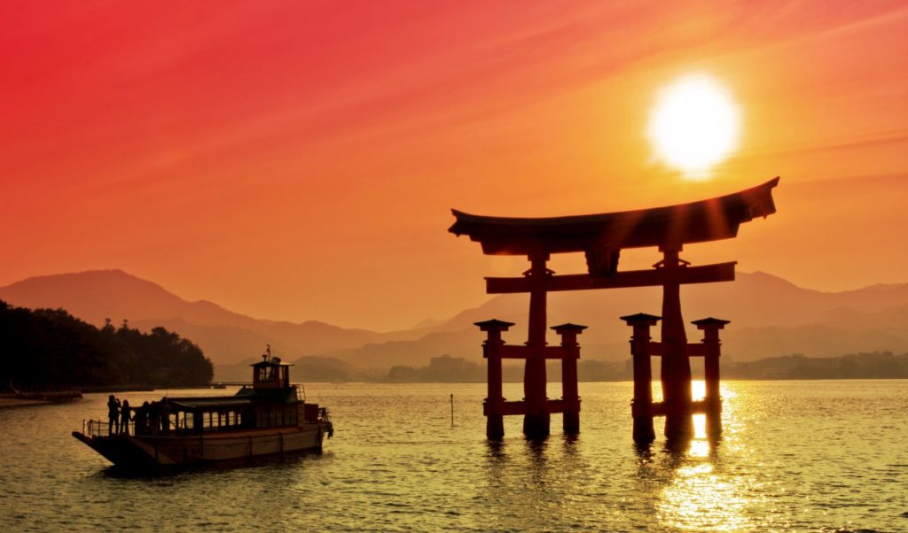
[[219, 461], [321, 452], [334, 426], [326, 408], [305, 402], [291, 384], [291, 364], [271, 355], [252, 366], [252, 386], [232, 396], [164, 397], [133, 406], [120, 431], [109, 422], [83, 422], [73, 436], [117, 467], [157, 469]]

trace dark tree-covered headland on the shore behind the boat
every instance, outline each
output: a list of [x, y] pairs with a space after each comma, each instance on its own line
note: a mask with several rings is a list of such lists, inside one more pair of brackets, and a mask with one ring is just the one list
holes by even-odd
[[189, 339], [124, 320], [95, 327], [64, 309], [27, 309], [0, 300], [0, 390], [193, 386], [212, 380], [212, 362]]

